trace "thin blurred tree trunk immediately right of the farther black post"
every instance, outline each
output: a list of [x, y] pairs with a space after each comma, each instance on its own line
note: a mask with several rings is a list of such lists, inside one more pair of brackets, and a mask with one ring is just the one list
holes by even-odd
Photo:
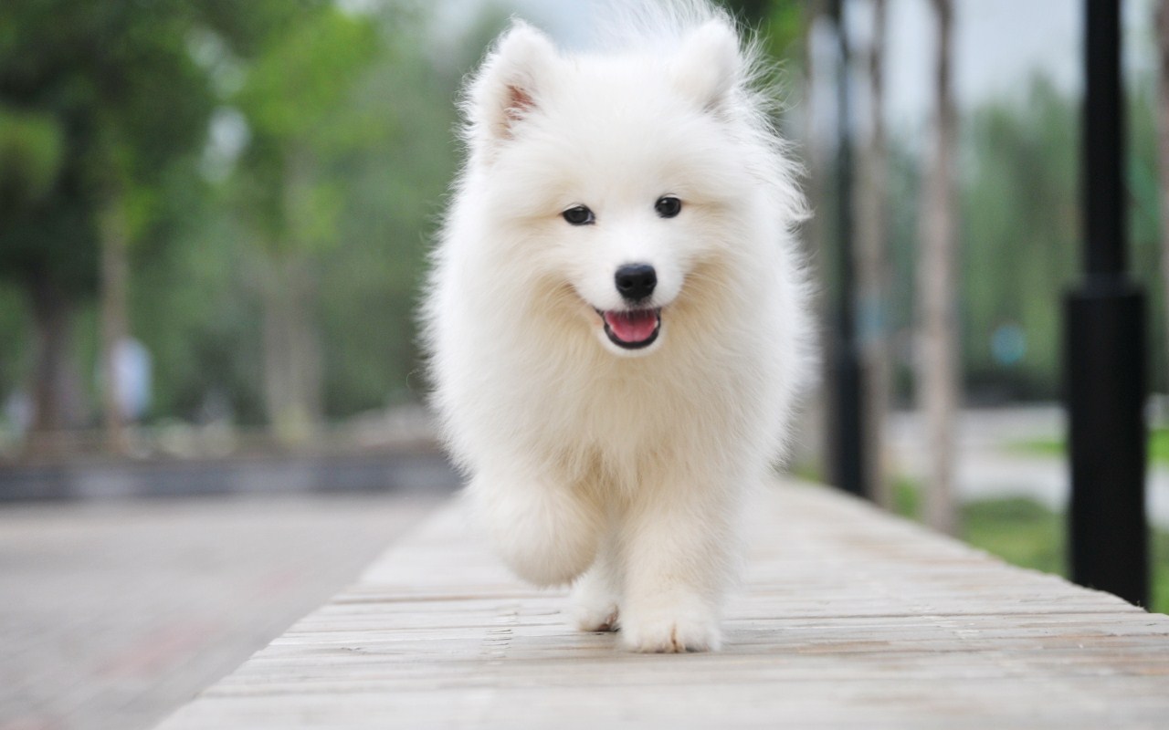
[[885, 444], [885, 422], [892, 399], [892, 366], [888, 345], [888, 151], [885, 135], [885, 0], [872, 0], [873, 35], [869, 47], [869, 144], [862, 155], [859, 210], [857, 220], [857, 284], [860, 299], [860, 346], [869, 388], [865, 390], [870, 464], [865, 472], [872, 480], [873, 500], [893, 508], [892, 470]]

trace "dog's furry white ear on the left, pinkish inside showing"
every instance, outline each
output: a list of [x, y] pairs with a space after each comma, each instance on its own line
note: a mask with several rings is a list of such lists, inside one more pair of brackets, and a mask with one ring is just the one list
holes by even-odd
[[540, 104], [541, 79], [556, 63], [548, 36], [516, 20], [487, 55], [471, 85], [468, 117], [476, 144], [510, 139]]

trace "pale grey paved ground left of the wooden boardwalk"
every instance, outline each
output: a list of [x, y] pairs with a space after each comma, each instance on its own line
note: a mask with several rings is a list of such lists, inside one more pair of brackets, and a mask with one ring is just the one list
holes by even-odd
[[0, 730], [153, 726], [441, 498], [0, 506]]

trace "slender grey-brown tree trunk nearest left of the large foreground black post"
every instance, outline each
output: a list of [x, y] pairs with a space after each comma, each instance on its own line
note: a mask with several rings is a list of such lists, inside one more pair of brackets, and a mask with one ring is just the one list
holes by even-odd
[[935, 76], [936, 120], [932, 155], [924, 175], [921, 251], [918, 259], [916, 388], [925, 412], [928, 482], [925, 485], [926, 522], [943, 533], [957, 531], [954, 495], [954, 431], [957, 413], [957, 338], [954, 277], [954, 169], [956, 112], [950, 88], [950, 0], [933, 0], [938, 20]]

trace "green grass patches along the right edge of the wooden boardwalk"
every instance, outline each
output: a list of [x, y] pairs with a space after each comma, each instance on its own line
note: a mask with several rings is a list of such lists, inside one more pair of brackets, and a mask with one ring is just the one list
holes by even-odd
[[[902, 479], [897, 485], [895, 508], [918, 519], [918, 487]], [[1066, 524], [1061, 514], [1024, 498], [978, 500], [962, 507], [961, 537], [1008, 563], [1061, 576], [1067, 575], [1064, 555]], [[1151, 530], [1150, 611], [1169, 613], [1169, 531]]]

